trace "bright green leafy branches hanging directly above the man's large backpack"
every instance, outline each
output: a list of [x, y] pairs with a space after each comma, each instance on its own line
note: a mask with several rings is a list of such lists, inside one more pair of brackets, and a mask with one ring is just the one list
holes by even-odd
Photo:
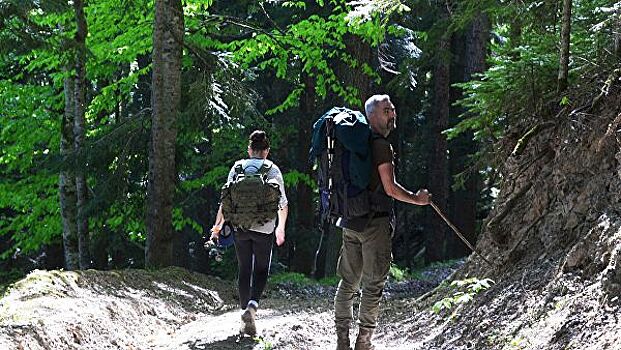
[[[300, 4], [298, 2], [293, 7], [306, 8]], [[287, 2], [284, 6], [292, 5]], [[339, 1], [327, 16], [311, 14], [287, 25], [285, 29], [263, 31], [251, 39], [233, 41], [226, 46], [234, 53], [235, 60], [244, 67], [256, 65], [260, 69], [272, 69], [277, 78], [294, 84], [284, 101], [268, 110], [267, 114], [297, 106], [305, 86], [302, 75], [313, 78], [314, 90], [320, 97], [326, 97], [332, 92], [351, 105], [361, 104], [357, 97], [358, 91], [354, 87], [344, 86], [337, 77], [333, 61], [340, 60], [350, 67], [362, 65], [365, 74], [379, 81], [372, 67], [358, 62], [347, 53], [346, 38], [348, 35], [359, 36], [377, 46], [385, 35], [385, 28], [378, 21], [348, 19], [348, 13], [349, 7], [344, 1]]]

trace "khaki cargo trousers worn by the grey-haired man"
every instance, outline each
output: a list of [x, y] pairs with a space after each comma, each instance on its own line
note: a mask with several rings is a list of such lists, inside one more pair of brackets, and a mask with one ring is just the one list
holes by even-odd
[[337, 274], [341, 277], [334, 297], [337, 326], [349, 327], [353, 301], [362, 284], [358, 325], [375, 328], [379, 302], [392, 260], [392, 229], [388, 217], [371, 220], [362, 232], [343, 229]]

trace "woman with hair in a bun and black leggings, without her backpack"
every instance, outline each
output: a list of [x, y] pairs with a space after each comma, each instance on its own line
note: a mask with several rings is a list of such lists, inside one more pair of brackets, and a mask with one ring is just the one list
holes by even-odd
[[[285, 223], [288, 213], [287, 196], [285, 195], [285, 186], [280, 169], [276, 164], [267, 159], [269, 152], [270, 144], [265, 131], [253, 131], [249, 137], [249, 158], [235, 162], [227, 180], [227, 184], [235, 181], [236, 177], [239, 176], [240, 169], [243, 170], [245, 175], [256, 173], [260, 171], [259, 169], [269, 169], [266, 170], [267, 180], [276, 182], [280, 190], [280, 200], [273, 219], [268, 220], [266, 223], [252, 224], [247, 228], [236, 227], [235, 230], [235, 252], [239, 267], [237, 283], [239, 302], [243, 310], [241, 316], [243, 322], [242, 332], [249, 335], [256, 334], [254, 317], [269, 273], [274, 242], [272, 234], [275, 232], [277, 245], [280, 246], [285, 242]], [[278, 220], [276, 220], [276, 217]], [[216, 215], [216, 222], [211, 229], [211, 239], [218, 238], [224, 221], [222, 204], [220, 204], [218, 214]]]

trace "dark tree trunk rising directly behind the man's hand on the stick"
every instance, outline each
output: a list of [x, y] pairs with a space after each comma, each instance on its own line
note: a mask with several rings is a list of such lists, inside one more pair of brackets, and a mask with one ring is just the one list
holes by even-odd
[[[434, 203], [446, 213], [448, 207], [448, 158], [446, 136], [450, 103], [450, 37], [443, 36], [437, 46], [436, 63], [433, 72], [433, 146], [429, 165], [429, 190]], [[448, 214], [448, 213], [446, 213]], [[444, 260], [446, 256], [446, 224], [436, 213], [429, 211], [428, 229], [425, 232], [427, 261]]]

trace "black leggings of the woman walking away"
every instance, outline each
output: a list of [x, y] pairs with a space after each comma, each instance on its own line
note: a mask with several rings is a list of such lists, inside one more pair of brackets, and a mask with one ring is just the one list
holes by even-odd
[[270, 270], [273, 234], [237, 229], [235, 253], [239, 275], [239, 304], [245, 309], [250, 300], [259, 302]]

